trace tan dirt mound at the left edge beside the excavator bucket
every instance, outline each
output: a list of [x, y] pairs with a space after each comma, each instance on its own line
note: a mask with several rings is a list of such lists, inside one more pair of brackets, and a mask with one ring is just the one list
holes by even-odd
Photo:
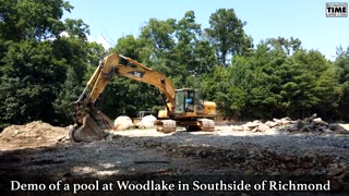
[[41, 121], [34, 121], [24, 125], [11, 125], [0, 134], [0, 149], [51, 146], [68, 138], [68, 127], [52, 126]]

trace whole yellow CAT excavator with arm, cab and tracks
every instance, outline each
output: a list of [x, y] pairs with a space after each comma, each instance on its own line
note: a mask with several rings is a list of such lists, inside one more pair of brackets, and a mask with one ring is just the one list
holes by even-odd
[[[120, 64], [120, 59], [128, 63]], [[133, 66], [132, 66], [133, 64]], [[95, 101], [115, 75], [121, 75], [157, 87], [165, 96], [165, 110], [158, 113], [156, 130], [164, 133], [176, 131], [176, 125], [186, 131], [214, 131], [217, 117], [216, 103], [204, 101], [196, 89], [174, 89], [172, 83], [161, 73], [119, 53], [106, 57], [82, 95], [74, 102], [75, 125], [70, 130], [74, 142], [93, 142], [106, 138], [105, 130], [113, 130], [113, 122], [94, 107]]]

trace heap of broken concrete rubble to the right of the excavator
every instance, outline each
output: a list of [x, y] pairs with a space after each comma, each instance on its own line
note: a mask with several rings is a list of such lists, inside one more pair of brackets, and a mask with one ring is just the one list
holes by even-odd
[[267, 132], [286, 131], [291, 133], [340, 133], [349, 134], [349, 132], [337, 123], [328, 123], [317, 118], [314, 113], [304, 120], [291, 120], [290, 118], [273, 119], [263, 123], [260, 120], [248, 122], [243, 125], [233, 125], [233, 131], [249, 131], [249, 132]]

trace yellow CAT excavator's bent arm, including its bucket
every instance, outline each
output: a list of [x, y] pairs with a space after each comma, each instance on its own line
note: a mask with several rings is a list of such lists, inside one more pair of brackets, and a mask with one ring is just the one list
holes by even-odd
[[[119, 64], [124, 59], [135, 68]], [[75, 142], [93, 142], [105, 138], [103, 130], [111, 130], [112, 121], [94, 107], [95, 101], [115, 75], [129, 77], [157, 87], [166, 97], [169, 114], [173, 113], [174, 87], [163, 74], [124, 56], [112, 53], [104, 59], [86, 84], [85, 89], [74, 102], [75, 125], [70, 131], [70, 136]], [[98, 124], [97, 122], [103, 122]]]

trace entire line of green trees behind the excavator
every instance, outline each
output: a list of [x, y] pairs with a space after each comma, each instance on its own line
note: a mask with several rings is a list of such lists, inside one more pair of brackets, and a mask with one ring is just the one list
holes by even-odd
[[[151, 19], [139, 36], [124, 36], [105, 51], [87, 41], [82, 20], [61, 21], [72, 9], [67, 1], [0, 4], [0, 128], [33, 120], [72, 123], [73, 102], [111, 52], [165, 74], [177, 88], [198, 88], [225, 118], [348, 118], [349, 49], [339, 48], [334, 63], [293, 37], [269, 38], [253, 49], [232, 9], [213, 13], [207, 29], [194, 11], [180, 20]], [[96, 105], [116, 118], [156, 112], [163, 101], [156, 87], [117, 76]]]

